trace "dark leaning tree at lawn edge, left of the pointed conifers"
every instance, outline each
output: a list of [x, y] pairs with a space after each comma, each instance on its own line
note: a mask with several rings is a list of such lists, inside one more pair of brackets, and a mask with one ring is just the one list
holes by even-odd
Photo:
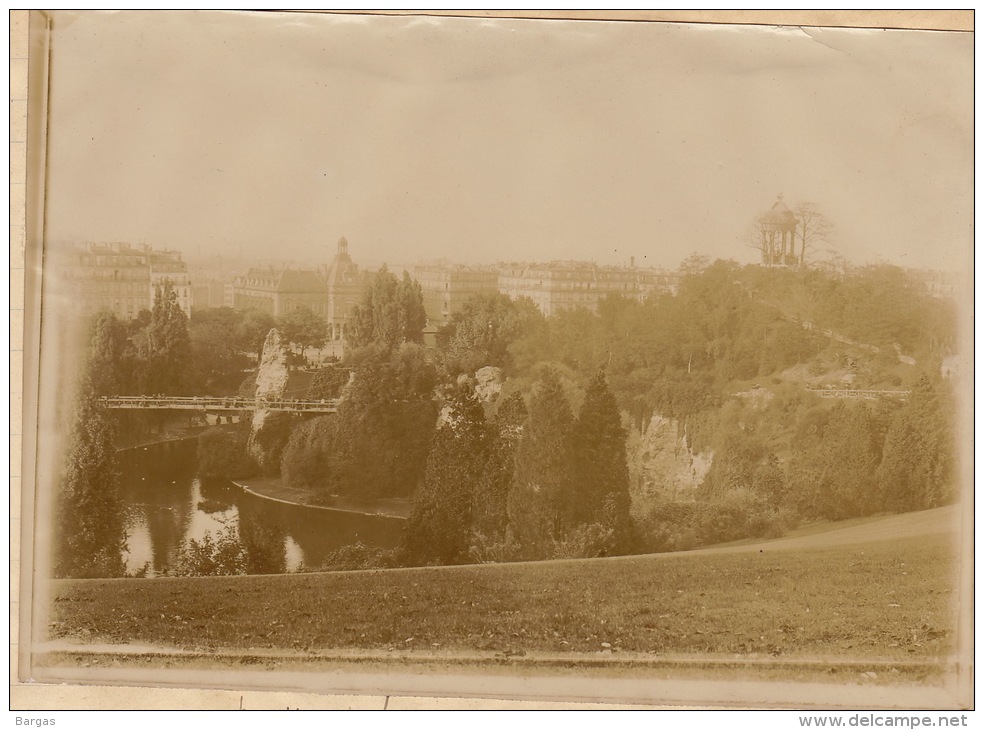
[[411, 561], [421, 564], [467, 561], [475, 492], [489, 457], [485, 414], [471, 385], [457, 385], [447, 409], [446, 420], [434, 435], [407, 523], [407, 553]]

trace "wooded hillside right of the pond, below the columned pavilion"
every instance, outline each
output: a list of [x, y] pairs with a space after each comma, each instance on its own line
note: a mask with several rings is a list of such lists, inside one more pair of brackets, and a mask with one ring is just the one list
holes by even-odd
[[[475, 541], [473, 555], [682, 549], [955, 498], [955, 409], [939, 368], [955, 347], [951, 303], [889, 266], [694, 257], [686, 270], [675, 294], [609, 297], [597, 312], [523, 318], [531, 303], [476, 298], [442, 332], [445, 377], [498, 366], [502, 397], [523, 394], [529, 412], [506, 539]], [[900, 394], [818, 397], [824, 386]], [[661, 488], [658, 474], [642, 484], [652, 455], [640, 439], [666, 419], [670, 448], [709, 464], [689, 490]]]

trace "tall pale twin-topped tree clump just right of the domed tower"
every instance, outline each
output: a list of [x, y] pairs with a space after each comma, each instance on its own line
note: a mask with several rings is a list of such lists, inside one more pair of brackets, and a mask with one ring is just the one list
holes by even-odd
[[384, 266], [370, 278], [362, 302], [352, 310], [348, 341], [352, 347], [377, 344], [394, 348], [422, 343], [427, 314], [420, 284], [410, 275], [397, 279]]

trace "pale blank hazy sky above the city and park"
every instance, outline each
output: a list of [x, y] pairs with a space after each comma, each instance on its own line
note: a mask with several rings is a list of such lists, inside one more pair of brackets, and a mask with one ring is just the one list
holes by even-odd
[[675, 267], [783, 193], [849, 260], [969, 266], [970, 33], [62, 13], [48, 240]]

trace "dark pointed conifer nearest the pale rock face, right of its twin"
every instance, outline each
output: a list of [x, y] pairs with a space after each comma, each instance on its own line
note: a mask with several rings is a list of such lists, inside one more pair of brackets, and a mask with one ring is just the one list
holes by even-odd
[[626, 433], [603, 370], [588, 383], [573, 436], [574, 523], [612, 530], [615, 545], [625, 550], [631, 531]]

